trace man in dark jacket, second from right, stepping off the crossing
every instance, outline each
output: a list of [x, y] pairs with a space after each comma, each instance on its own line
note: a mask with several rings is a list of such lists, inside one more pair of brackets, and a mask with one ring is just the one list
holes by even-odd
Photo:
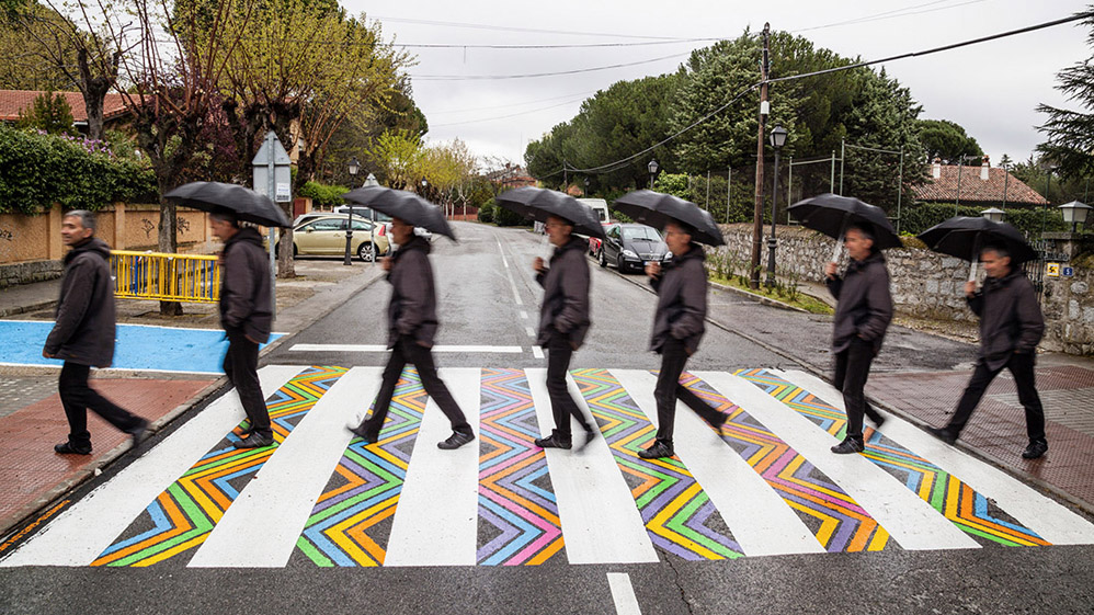
[[889, 294], [889, 270], [885, 257], [874, 251], [873, 229], [852, 226], [844, 235], [851, 263], [840, 277], [836, 264], [824, 270], [828, 288], [836, 299], [832, 329], [832, 353], [835, 355], [835, 388], [843, 391], [847, 410], [847, 435], [832, 447], [846, 455], [866, 448], [863, 440], [863, 415], [869, 415], [878, 428], [885, 417], [866, 401], [866, 378], [870, 363], [881, 350], [881, 341], [892, 320], [892, 296]]

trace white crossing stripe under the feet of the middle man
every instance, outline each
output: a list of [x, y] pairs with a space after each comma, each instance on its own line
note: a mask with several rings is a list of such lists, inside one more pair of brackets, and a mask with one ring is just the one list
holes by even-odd
[[[535, 401], [539, 429], [543, 433], [550, 433], [555, 429], [555, 419], [547, 396], [547, 371], [537, 367], [524, 372]], [[572, 378], [569, 380], [570, 395], [588, 413], [577, 385]], [[572, 426], [576, 437], [584, 437], [580, 426]], [[547, 467], [570, 563], [658, 561], [630, 488], [619, 474], [602, 435], [597, 435], [580, 453], [548, 448]]]

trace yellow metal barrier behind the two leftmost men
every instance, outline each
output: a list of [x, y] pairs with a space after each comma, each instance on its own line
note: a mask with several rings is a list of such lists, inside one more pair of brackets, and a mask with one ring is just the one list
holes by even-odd
[[212, 304], [220, 300], [217, 257], [111, 251], [114, 296]]

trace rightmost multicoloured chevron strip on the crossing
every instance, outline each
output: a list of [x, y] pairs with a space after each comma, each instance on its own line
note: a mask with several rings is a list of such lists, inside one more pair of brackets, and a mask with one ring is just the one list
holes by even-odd
[[[793, 408], [836, 439], [842, 439], [846, 433], [846, 414], [777, 374], [768, 369], [742, 369], [737, 375]], [[869, 432], [863, 456], [901, 480], [923, 501], [930, 503], [973, 538], [1006, 546], [1049, 544], [959, 478], [886, 437], [880, 431], [871, 429]]]

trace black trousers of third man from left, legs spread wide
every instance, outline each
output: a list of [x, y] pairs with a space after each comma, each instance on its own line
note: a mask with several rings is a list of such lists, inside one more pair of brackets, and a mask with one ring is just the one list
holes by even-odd
[[467, 418], [456, 405], [448, 387], [444, 380], [437, 376], [436, 365], [433, 363], [433, 353], [430, 349], [420, 345], [413, 338], [402, 335], [391, 350], [387, 367], [384, 368], [384, 378], [380, 381], [380, 390], [376, 395], [376, 403], [373, 406], [373, 413], [366, 419], [362, 426], [368, 433], [378, 434], [384, 429], [384, 421], [387, 419], [388, 410], [391, 407], [391, 396], [395, 395], [395, 385], [399, 383], [402, 368], [408, 364], [413, 364], [418, 368], [418, 375], [422, 378], [422, 386], [433, 401], [441, 407], [441, 411], [452, 423], [452, 431], [471, 434], [471, 425], [467, 423]]

